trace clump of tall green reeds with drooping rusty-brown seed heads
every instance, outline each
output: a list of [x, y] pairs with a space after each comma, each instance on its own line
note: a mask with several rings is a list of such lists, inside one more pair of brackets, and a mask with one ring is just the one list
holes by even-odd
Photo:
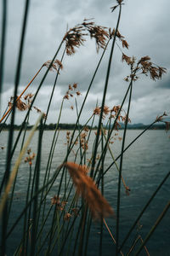
[[[111, 11], [119, 9], [116, 28], [106, 28], [94, 23], [94, 20], [83, 20], [82, 23], [74, 26], [65, 33], [59, 44], [58, 49], [54, 53], [51, 61], [46, 61], [39, 68], [37, 73], [33, 75], [31, 81], [26, 88], [18, 96], [18, 87], [20, 84], [20, 68], [22, 64], [22, 55], [24, 42], [26, 38], [26, 22], [29, 14], [29, 0], [26, 1], [24, 21], [20, 37], [20, 53], [18, 64], [16, 67], [14, 96], [8, 102], [8, 108], [2, 114], [0, 122], [3, 124], [10, 119], [10, 129], [8, 131], [8, 144], [6, 145], [6, 166], [1, 180], [0, 194], [0, 216], [1, 216], [1, 255], [88, 255], [88, 245], [93, 224], [99, 226], [99, 255], [105, 255], [104, 230], [108, 231], [111, 236], [115, 251], [111, 255], [139, 255], [141, 250], [146, 255], [150, 255], [147, 248], [147, 241], [152, 239], [152, 234], [156, 227], [160, 224], [161, 219], [167, 213], [170, 202], [161, 213], [153, 227], [148, 231], [145, 237], [141, 234], [134, 236], [133, 230], [138, 229], [139, 221], [147, 211], [150, 203], [154, 200], [157, 193], [169, 178], [170, 172], [160, 180], [156, 190], [149, 196], [145, 206], [139, 212], [134, 223], [131, 225], [124, 239], [120, 239], [122, 230], [121, 222], [121, 196], [122, 185], [127, 195], [130, 194], [130, 188], [127, 186], [128, 181], [123, 177], [123, 160], [125, 152], [136, 143], [150, 127], [157, 122], [165, 122], [168, 126], [167, 113], [162, 113], [156, 117], [153, 123], [141, 131], [138, 137], [135, 137], [131, 143], [126, 144], [127, 125], [130, 122], [130, 108], [133, 98], [133, 84], [137, 83], [139, 77], [150, 76], [150, 79], [161, 79], [166, 68], [159, 67], [150, 60], [150, 56], [145, 55], [138, 61], [135, 57], [124, 54], [124, 48], [128, 49], [126, 39], [119, 31], [119, 23], [121, 21], [123, 0], [116, 0], [116, 5]], [[6, 1], [3, 1], [3, 32], [2, 32], [2, 49], [5, 48], [6, 33]], [[86, 44], [87, 38], [95, 40], [97, 53], [100, 54], [99, 63], [88, 85], [88, 90], [82, 100], [81, 106], [77, 104], [77, 97], [81, 96], [80, 84], [71, 84], [68, 81], [68, 90], [65, 92], [60, 107], [56, 109], [59, 113], [53, 137], [48, 148], [48, 157], [42, 159], [43, 140], [45, 137], [45, 125], [48, 120], [48, 113], [51, 108], [51, 102], [54, 98], [54, 90], [59, 86], [59, 76], [62, 76], [63, 62], [67, 55], [73, 55], [77, 50], [81, 50], [81, 46]], [[122, 55], [122, 61], [125, 61], [129, 67], [129, 75], [125, 78], [128, 83], [127, 91], [122, 97], [122, 102], [109, 108], [105, 104], [107, 96], [108, 84], [111, 78], [112, 60], [114, 59], [114, 50], [118, 46]], [[108, 64], [105, 70], [105, 84], [102, 91], [101, 105], [96, 103], [94, 111], [89, 115], [87, 121], [81, 126], [80, 119], [86, 106], [90, 90], [94, 85], [94, 79], [99, 72], [99, 67], [105, 52], [109, 51]], [[62, 55], [58, 59], [58, 55]], [[3, 84], [3, 62], [4, 51], [1, 51], [1, 69], [0, 69], [0, 85]], [[28, 90], [31, 88], [33, 80], [47, 68], [42, 76], [42, 80], [37, 87], [36, 93], [33, 95]], [[113, 67], [114, 68], [114, 67]], [[56, 72], [54, 85], [48, 99], [46, 112], [42, 113], [40, 108], [34, 105], [34, 102], [42, 89], [42, 84], [50, 71]], [[113, 84], [114, 86], [114, 84]], [[27, 92], [26, 92], [27, 90]], [[0, 90], [1, 92], [1, 90]], [[67, 131], [65, 134], [65, 154], [63, 159], [57, 163], [54, 169], [54, 160], [56, 149], [59, 148], [59, 123], [62, 117], [65, 102], [75, 99], [74, 106], [71, 103], [71, 110], [77, 114], [73, 131]], [[125, 110], [125, 103], [127, 109]], [[31, 119], [31, 110], [37, 111], [40, 117], [37, 119], [36, 125], [31, 131], [28, 131], [28, 121]], [[16, 111], [26, 113], [23, 119], [20, 131], [14, 137], [14, 119]], [[95, 120], [98, 120], [98, 127], [93, 142], [90, 140], [94, 132]], [[166, 120], [166, 121], [165, 121]], [[106, 122], [106, 125], [103, 122]], [[119, 136], [121, 122], [124, 123], [122, 137]], [[35, 131], [38, 130], [37, 152], [31, 150], [31, 139]], [[28, 135], [29, 134], [29, 135]], [[1, 134], [3, 136], [3, 128]], [[28, 136], [28, 137], [27, 137]], [[122, 143], [118, 156], [113, 153], [114, 140]], [[20, 148], [20, 150], [18, 149]], [[18, 157], [16, 158], [16, 152]], [[26, 153], [27, 152], [27, 153]], [[106, 158], [109, 156], [110, 165], [106, 164]], [[20, 183], [20, 174], [22, 170], [22, 162], [25, 161], [27, 166], [27, 183], [25, 198], [17, 208], [14, 197], [17, 191], [17, 184]], [[43, 166], [42, 166], [43, 161]], [[116, 207], [112, 207], [105, 195], [105, 177], [108, 173], [112, 173], [112, 167], [116, 166], [118, 175], [116, 178], [117, 196], [115, 199]], [[12, 170], [12, 171], [11, 171]], [[42, 172], [43, 170], [43, 172]], [[52, 196], [53, 195], [53, 196]], [[15, 213], [16, 211], [16, 213]], [[107, 218], [109, 217], [109, 223]], [[115, 230], [110, 225], [114, 224]], [[17, 234], [17, 242], [11, 248], [10, 242]], [[128, 241], [128, 247], [126, 246]], [[98, 250], [94, 255], [97, 255]]]

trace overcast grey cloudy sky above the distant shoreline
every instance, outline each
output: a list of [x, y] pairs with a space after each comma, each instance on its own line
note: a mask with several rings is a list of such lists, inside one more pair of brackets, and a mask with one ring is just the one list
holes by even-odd
[[[67, 27], [71, 28], [81, 23], [84, 18], [94, 18], [96, 25], [115, 27], [118, 9], [111, 13], [111, 7], [116, 1], [111, 0], [31, 0], [26, 28], [26, 40], [22, 61], [19, 93], [29, 83], [31, 78], [45, 61], [51, 60], [59, 43], [65, 35]], [[123, 52], [137, 59], [150, 55], [151, 61], [167, 68], [167, 74], [161, 80], [154, 82], [150, 78], [140, 77], [133, 86], [133, 100], [130, 118], [132, 123], [150, 124], [158, 114], [170, 112], [170, 1], [169, 0], [124, 0], [122, 18], [119, 31], [126, 38], [129, 49]], [[5, 50], [5, 68], [2, 93], [2, 110], [7, 107], [10, 96], [14, 91], [14, 75], [17, 55], [20, 44], [20, 31], [24, 13], [25, 1], [8, 1], [8, 31]], [[2, 9], [2, 6], [1, 6]], [[121, 43], [117, 41], [120, 47]], [[64, 49], [64, 48], [63, 48]], [[63, 49], [60, 50], [60, 59]], [[110, 54], [109, 45], [105, 58], [99, 67], [94, 79], [86, 107], [82, 114], [81, 123], [84, 123], [93, 113], [96, 102], [101, 102], [105, 85], [105, 73]], [[68, 84], [77, 83], [82, 96], [77, 96], [80, 108], [83, 96], [88, 89], [95, 67], [98, 64], [102, 49], [96, 53], [94, 40], [88, 39], [84, 46], [77, 49], [75, 55], [65, 55], [63, 70], [60, 72], [54, 99], [48, 115], [48, 123], [56, 123], [59, 108]], [[122, 63], [122, 52], [116, 46], [111, 66], [106, 105], [112, 108], [121, 104], [123, 94], [127, 90], [127, 83], [123, 78], [129, 73], [129, 68]], [[35, 93], [46, 67], [42, 68], [37, 79], [34, 80], [27, 92]], [[35, 106], [45, 112], [54, 84], [56, 73], [49, 73], [42, 84]], [[61, 122], [74, 123], [76, 111], [71, 110], [75, 98], [65, 101]], [[124, 108], [127, 108], [125, 104]], [[16, 123], [20, 124], [26, 113], [17, 111]], [[32, 111], [31, 123], [37, 119], [37, 113]]]

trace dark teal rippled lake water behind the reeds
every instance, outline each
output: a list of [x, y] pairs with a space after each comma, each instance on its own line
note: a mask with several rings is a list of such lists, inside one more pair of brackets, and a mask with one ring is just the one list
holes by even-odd
[[[134, 137], [139, 135], [139, 130], [127, 131], [127, 142], [130, 143]], [[65, 158], [66, 148], [66, 131], [59, 132], [59, 139], [57, 147], [54, 152], [54, 160], [52, 162], [52, 173], [56, 170], [56, 167], [62, 163]], [[16, 137], [17, 131], [14, 132]], [[45, 131], [42, 142], [42, 161], [41, 161], [41, 181], [47, 166], [48, 154], [50, 150], [51, 141], [54, 135], [54, 131]], [[90, 157], [90, 150], [92, 148], [92, 142], [94, 141], [94, 131], [88, 143], [87, 159]], [[122, 136], [122, 131], [119, 132], [119, 137]], [[32, 152], [36, 152], [38, 133], [35, 133], [34, 138], [31, 141]], [[5, 158], [6, 158], [6, 145], [7, 145], [8, 131], [3, 131], [0, 135], [0, 145], [5, 148], [0, 152], [0, 179], [3, 177]], [[115, 143], [111, 144], [111, 150], [116, 157], [120, 154], [121, 141], [118, 139]], [[14, 160], [20, 147], [17, 148], [16, 154], [14, 154]], [[73, 160], [74, 154], [71, 154], [70, 160]], [[110, 166], [112, 160], [111, 155], [108, 153], [105, 159], [105, 169]], [[123, 158], [122, 176], [124, 177], [127, 186], [131, 189], [130, 195], [126, 195], [125, 190], [122, 187], [121, 195], [121, 220], [120, 220], [120, 241], [126, 236], [127, 231], [133, 224], [133, 221], [138, 216], [139, 212], [144, 207], [145, 203], [150, 198], [150, 195], [155, 191], [156, 187], [161, 183], [163, 177], [166, 176], [170, 170], [170, 138], [165, 131], [146, 131], [139, 140], [127, 150]], [[26, 184], [28, 182], [29, 167], [24, 160], [20, 166], [19, 175], [17, 178], [16, 189], [14, 194], [14, 206], [12, 208], [11, 218], [9, 220], [9, 226], [14, 223], [14, 219], [17, 218], [20, 210], [24, 207], [24, 201], [26, 200]], [[113, 209], [116, 211], [116, 193], [117, 193], [117, 178], [118, 172], [116, 167], [112, 166], [110, 171], [105, 175], [105, 198], [110, 202]], [[48, 195], [48, 201], [55, 195], [59, 181], [54, 183], [54, 187]], [[154, 201], [151, 202], [150, 207], [144, 212], [143, 217], [140, 220], [142, 228], [139, 230], [139, 234], [144, 237], [150, 230], [151, 226], [156, 222], [156, 218], [161, 214], [163, 208], [170, 200], [170, 178], [163, 184], [160, 191], [156, 195]], [[109, 225], [111, 232], [115, 234], [116, 221], [113, 218], [106, 218], [106, 222]], [[99, 231], [100, 224], [94, 223], [89, 238], [88, 255], [99, 255]], [[137, 230], [133, 231], [133, 236], [137, 235]], [[14, 230], [12, 235], [8, 238], [8, 255], [14, 254], [14, 248], [17, 241], [20, 238], [20, 224], [17, 229]], [[72, 241], [74, 243], [74, 241]], [[129, 248], [130, 240], [125, 245], [125, 251]], [[151, 236], [150, 241], [146, 246], [150, 253], [150, 256], [169, 256], [170, 255], [170, 211], [162, 219], [161, 224], [158, 225], [154, 234]], [[123, 252], [123, 250], [122, 250]], [[43, 253], [41, 254], [43, 255]], [[54, 253], [56, 255], [56, 253]], [[115, 245], [111, 240], [111, 236], [104, 228], [103, 237], [103, 255], [110, 256], [115, 255]], [[133, 253], [132, 253], [133, 255]], [[143, 251], [139, 255], [146, 255]]]

